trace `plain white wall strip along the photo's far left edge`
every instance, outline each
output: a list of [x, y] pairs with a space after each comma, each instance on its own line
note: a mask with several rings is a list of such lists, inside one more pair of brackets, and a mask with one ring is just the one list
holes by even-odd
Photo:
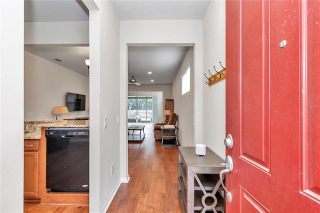
[[0, 212], [23, 212], [23, 0], [0, 0]]

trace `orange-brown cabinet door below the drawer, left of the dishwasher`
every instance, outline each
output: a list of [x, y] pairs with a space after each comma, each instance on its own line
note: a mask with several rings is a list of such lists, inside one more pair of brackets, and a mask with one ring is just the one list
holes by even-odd
[[24, 152], [24, 193], [25, 197], [38, 196], [38, 152]]

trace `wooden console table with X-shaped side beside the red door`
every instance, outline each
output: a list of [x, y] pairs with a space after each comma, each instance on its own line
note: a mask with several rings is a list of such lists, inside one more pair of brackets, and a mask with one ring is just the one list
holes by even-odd
[[219, 172], [223, 159], [206, 147], [196, 155], [195, 147], [178, 147], [178, 195], [183, 212], [224, 212], [224, 191]]

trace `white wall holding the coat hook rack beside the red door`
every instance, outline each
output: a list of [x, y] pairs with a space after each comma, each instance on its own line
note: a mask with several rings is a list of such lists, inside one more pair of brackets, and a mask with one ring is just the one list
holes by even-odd
[[[203, 72], [208, 76], [225, 66], [225, 1], [211, 1], [203, 17]], [[228, 69], [226, 67], [226, 74]], [[224, 159], [225, 146], [225, 79], [208, 86], [203, 84], [203, 143]]]

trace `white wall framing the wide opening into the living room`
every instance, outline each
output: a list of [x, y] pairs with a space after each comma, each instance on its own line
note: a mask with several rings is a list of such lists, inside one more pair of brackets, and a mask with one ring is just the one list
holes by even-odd
[[127, 170], [127, 46], [178, 44], [194, 45], [194, 137], [202, 141], [202, 20], [126, 20], [120, 21], [120, 153], [121, 177]]

